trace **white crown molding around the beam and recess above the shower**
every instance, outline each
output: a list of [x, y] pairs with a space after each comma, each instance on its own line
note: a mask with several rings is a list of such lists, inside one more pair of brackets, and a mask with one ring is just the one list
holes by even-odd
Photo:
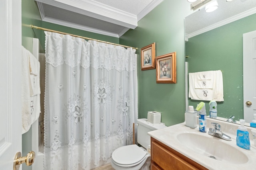
[[[55, 23], [59, 25], [64, 25], [67, 27], [72, 27], [76, 29], [81, 29], [84, 31], [90, 31], [93, 33], [98, 33], [102, 35], [108, 35], [112, 37], [121, 37], [129, 29], [135, 29], [138, 26], [138, 20], [141, 20], [146, 14], [152, 11], [156, 6], [158, 6], [163, 0], [152, 0], [146, 8], [138, 14], [130, 14], [123, 10], [107, 6], [102, 3], [98, 3], [93, 0], [34, 0], [38, 4], [38, 9], [40, 12], [41, 20], [50, 23]], [[64, 10], [79, 13], [85, 16], [96, 18], [98, 20], [103, 20], [109, 23], [120, 25], [124, 27], [118, 33], [113, 33], [109, 31], [104, 31], [100, 29], [94, 29], [93, 27], [88, 27], [80, 24], [75, 24], [70, 21], [62, 21], [59, 19], [54, 19], [52, 16], [46, 16], [44, 13], [44, 4], [55, 6]]]

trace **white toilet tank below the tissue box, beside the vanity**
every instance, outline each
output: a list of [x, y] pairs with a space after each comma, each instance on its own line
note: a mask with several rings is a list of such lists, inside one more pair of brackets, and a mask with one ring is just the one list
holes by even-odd
[[137, 123], [137, 141], [144, 148], [147, 148], [147, 146], [150, 145], [150, 136], [148, 135], [148, 132], [167, 127], [164, 123], [153, 124], [147, 121], [147, 119], [138, 119]]

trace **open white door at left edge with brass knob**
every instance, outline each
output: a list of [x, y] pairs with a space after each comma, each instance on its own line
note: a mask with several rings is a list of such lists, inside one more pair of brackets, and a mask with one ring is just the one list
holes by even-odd
[[21, 1], [1, 0], [0, 18], [0, 169], [12, 170], [22, 150]]

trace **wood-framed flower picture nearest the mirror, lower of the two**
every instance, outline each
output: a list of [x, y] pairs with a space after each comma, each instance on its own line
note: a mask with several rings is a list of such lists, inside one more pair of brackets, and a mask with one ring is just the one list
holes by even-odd
[[176, 52], [156, 57], [156, 83], [176, 83]]

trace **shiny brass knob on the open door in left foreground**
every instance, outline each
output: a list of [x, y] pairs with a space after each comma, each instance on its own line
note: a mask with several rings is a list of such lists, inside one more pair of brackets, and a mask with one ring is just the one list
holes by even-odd
[[20, 164], [26, 163], [27, 166], [30, 166], [34, 163], [34, 158], [36, 154], [34, 151], [28, 152], [27, 156], [21, 156], [21, 152], [17, 152], [14, 161], [13, 161], [13, 170], [18, 170], [20, 168]]

